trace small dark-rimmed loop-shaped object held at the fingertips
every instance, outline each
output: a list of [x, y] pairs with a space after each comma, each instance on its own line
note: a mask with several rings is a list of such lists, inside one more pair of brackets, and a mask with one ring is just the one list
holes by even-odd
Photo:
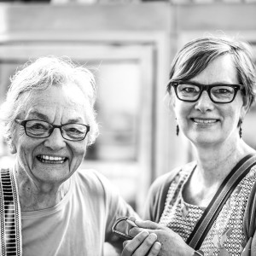
[[137, 224], [135, 224], [127, 217], [121, 217], [114, 222], [112, 226], [112, 232], [124, 239], [131, 240], [132, 237], [128, 234], [129, 230], [131, 230], [133, 227], [137, 227]]

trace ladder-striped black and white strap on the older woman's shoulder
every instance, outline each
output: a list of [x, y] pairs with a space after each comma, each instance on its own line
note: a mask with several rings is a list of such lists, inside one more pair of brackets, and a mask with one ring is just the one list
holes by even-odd
[[21, 256], [21, 215], [15, 176], [9, 169], [0, 171], [0, 255]]

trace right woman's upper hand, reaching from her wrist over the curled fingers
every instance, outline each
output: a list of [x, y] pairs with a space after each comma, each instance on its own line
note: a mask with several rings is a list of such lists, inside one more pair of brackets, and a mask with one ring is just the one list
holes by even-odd
[[[160, 224], [156, 224], [152, 221], [141, 221], [141, 220], [135, 220], [132, 218], [133, 221], [135, 221], [135, 224], [139, 228], [132, 228], [129, 232], [130, 236], [137, 237], [139, 234], [142, 234], [143, 232], [148, 231], [149, 234], [155, 234], [157, 236], [157, 241], [160, 242], [160, 252], [159, 256], [185, 256], [185, 255], [193, 255], [195, 250], [191, 247], [189, 247], [185, 241], [183, 241], [183, 238], [181, 236], [178, 236], [177, 233], [173, 232], [171, 229], [162, 226]], [[149, 236], [148, 236], [149, 237]], [[135, 239], [135, 238], [134, 238]], [[133, 239], [133, 240], [134, 240]], [[132, 241], [133, 241], [132, 240]], [[137, 242], [138, 244], [138, 242]], [[141, 245], [145, 249], [145, 244]], [[138, 248], [137, 248], [138, 250]], [[126, 255], [132, 255], [132, 254], [124, 254]], [[144, 255], [144, 254], [134, 254], [134, 255]], [[155, 254], [153, 254], [155, 255]]]

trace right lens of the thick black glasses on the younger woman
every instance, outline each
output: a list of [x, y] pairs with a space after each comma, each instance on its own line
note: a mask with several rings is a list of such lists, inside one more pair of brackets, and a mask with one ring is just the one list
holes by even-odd
[[215, 102], [231, 102], [235, 96], [235, 89], [227, 85], [214, 86], [211, 89], [211, 96]]

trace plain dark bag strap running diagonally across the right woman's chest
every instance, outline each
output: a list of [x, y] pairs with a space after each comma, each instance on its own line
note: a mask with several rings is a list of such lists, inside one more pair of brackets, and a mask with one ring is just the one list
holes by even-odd
[[250, 172], [251, 168], [256, 164], [256, 154], [248, 154], [245, 156], [224, 179], [216, 195], [212, 198], [209, 206], [195, 225], [194, 230], [190, 234], [187, 243], [190, 247], [198, 250], [202, 241], [207, 236], [213, 222], [218, 217], [224, 203], [228, 200], [233, 190], [241, 182], [242, 178]]

